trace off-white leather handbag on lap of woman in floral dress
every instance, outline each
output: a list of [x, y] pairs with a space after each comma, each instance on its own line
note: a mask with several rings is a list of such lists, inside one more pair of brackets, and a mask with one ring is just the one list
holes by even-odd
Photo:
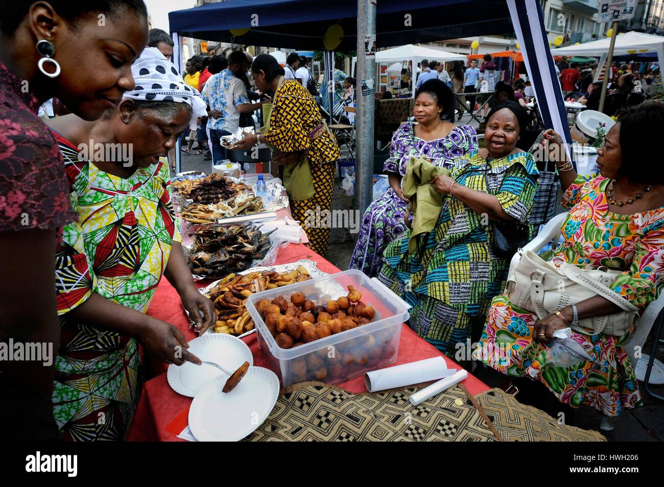
[[620, 271], [584, 270], [563, 259], [545, 261], [537, 253], [520, 250], [521, 259], [507, 277], [507, 295], [517, 307], [531, 311], [541, 319], [579, 301], [600, 295], [623, 311], [609, 316], [579, 320], [574, 330], [583, 334], [604, 333], [622, 336], [631, 330], [638, 307], [610, 289]]

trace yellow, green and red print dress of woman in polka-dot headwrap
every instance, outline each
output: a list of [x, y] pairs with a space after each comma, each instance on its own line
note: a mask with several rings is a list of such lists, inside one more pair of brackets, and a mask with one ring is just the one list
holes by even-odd
[[139, 355], [129, 336], [68, 317], [92, 293], [145, 313], [180, 242], [162, 159], [124, 179], [86, 160], [57, 133], [78, 221], [56, 253], [60, 350], [53, 413], [70, 441], [122, 440], [138, 401]]

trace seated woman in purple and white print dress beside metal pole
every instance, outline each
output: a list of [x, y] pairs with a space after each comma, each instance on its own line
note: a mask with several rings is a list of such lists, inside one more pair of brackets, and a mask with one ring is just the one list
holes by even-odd
[[392, 137], [390, 157], [383, 166], [390, 188], [367, 208], [349, 264], [349, 269], [360, 269], [370, 277], [378, 273], [388, 243], [406, 230], [408, 199], [401, 180], [408, 158], [424, 156], [436, 166], [452, 167], [454, 159], [477, 150], [473, 127], [445, 120], [448, 115], [454, 120], [454, 93], [444, 82], [422, 84], [415, 93], [413, 112], [418, 123], [403, 123]]

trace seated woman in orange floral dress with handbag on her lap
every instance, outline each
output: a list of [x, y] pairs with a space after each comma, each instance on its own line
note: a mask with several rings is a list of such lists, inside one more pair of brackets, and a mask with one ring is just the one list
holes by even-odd
[[[598, 151], [600, 176], [586, 181], [577, 178], [573, 169], [559, 171], [566, 188], [562, 204], [570, 213], [560, 229], [564, 241], [550, 259], [623, 271], [610, 287], [641, 309], [657, 298], [664, 278], [664, 172], [651, 165], [650, 149], [639, 141], [657, 140], [663, 130], [664, 105], [641, 104], [627, 111], [606, 135]], [[548, 131], [548, 139], [549, 145], [562, 143], [553, 131]], [[601, 296], [577, 307], [579, 319], [620, 311]], [[560, 313], [570, 323], [574, 319], [570, 306]], [[639, 405], [635, 364], [623, 349], [631, 331], [612, 336], [576, 328], [572, 339], [593, 360], [566, 368], [549, 366], [547, 344], [554, 330], [566, 326], [555, 314], [538, 320], [536, 314], [513, 305], [507, 295], [499, 295], [491, 304], [478, 353], [507, 376], [541, 382], [572, 407], [590, 405], [606, 417], [615, 417]]]

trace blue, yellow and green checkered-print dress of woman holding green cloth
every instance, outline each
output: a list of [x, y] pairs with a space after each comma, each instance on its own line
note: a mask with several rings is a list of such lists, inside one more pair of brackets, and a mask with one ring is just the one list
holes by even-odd
[[[475, 151], [452, 169], [461, 186], [491, 192], [521, 223], [537, 191], [537, 167], [529, 153], [485, 160]], [[408, 324], [444, 354], [469, 337], [470, 324], [485, 316], [507, 278], [507, 260], [493, 251], [492, 226], [481, 214], [446, 195], [438, 223], [408, 255], [407, 230], [385, 249], [378, 278], [412, 310]], [[532, 226], [531, 226], [532, 232]]]

